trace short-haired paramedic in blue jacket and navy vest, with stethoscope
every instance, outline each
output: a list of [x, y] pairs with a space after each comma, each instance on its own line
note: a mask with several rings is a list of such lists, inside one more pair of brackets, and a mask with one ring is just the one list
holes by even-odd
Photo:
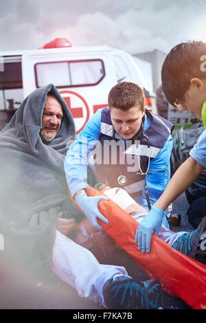
[[[71, 196], [90, 223], [100, 229], [98, 201], [87, 196], [87, 166], [99, 182], [121, 187], [150, 210], [170, 180], [173, 124], [145, 107], [144, 91], [121, 82], [108, 94], [108, 107], [99, 109], [76, 137], [65, 158]], [[168, 227], [166, 213], [163, 224]]]

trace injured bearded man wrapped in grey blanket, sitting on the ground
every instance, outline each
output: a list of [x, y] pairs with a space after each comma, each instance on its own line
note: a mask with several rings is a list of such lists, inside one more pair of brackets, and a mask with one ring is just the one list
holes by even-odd
[[[53, 272], [79, 296], [104, 307], [157, 308], [159, 282], [137, 281], [124, 267], [101, 265], [67, 236], [71, 221], [84, 217], [68, 196], [64, 172], [67, 142], [75, 134], [71, 113], [54, 85], [27, 96], [1, 131], [1, 259], [38, 281]], [[61, 212], [67, 219], [60, 219]]]

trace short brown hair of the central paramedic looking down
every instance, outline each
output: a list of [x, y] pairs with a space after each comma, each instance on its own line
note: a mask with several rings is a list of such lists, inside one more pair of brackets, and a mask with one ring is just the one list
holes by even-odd
[[140, 110], [144, 109], [144, 91], [135, 83], [118, 83], [108, 93], [108, 107], [110, 109], [128, 110], [135, 104], [139, 105]]

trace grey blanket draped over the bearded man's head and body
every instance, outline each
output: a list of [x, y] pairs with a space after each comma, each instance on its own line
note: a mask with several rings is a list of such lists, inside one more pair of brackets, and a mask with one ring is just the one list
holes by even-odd
[[[56, 96], [64, 115], [54, 140], [43, 144], [39, 132], [47, 93]], [[37, 272], [51, 264], [60, 210], [82, 219], [67, 195], [63, 168], [67, 142], [74, 137], [71, 113], [52, 84], [27, 96], [0, 133], [0, 257], [14, 266]]]

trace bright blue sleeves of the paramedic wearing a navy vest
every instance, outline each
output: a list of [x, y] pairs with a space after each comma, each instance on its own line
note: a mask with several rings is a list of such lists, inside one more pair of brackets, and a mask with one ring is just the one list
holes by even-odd
[[[87, 189], [87, 166], [89, 164], [89, 155], [98, 144], [100, 138], [100, 122], [102, 109], [99, 109], [87, 122], [84, 129], [78, 134], [76, 141], [71, 145], [65, 157], [65, 173], [67, 183], [71, 195], [75, 194], [81, 188]], [[144, 120], [144, 131], [150, 127], [151, 120], [146, 116]], [[146, 183], [148, 186], [148, 196], [150, 203], [153, 205], [161, 196], [163, 190], [170, 181], [170, 155], [172, 152], [173, 140], [172, 136], [168, 136], [168, 140], [161, 148], [161, 151], [150, 161], [150, 168], [146, 175]], [[146, 188], [144, 186], [142, 195], [137, 197], [135, 201], [148, 210], [146, 201]], [[165, 213], [166, 214], [166, 213]], [[168, 221], [164, 218], [163, 224], [168, 227]]]

